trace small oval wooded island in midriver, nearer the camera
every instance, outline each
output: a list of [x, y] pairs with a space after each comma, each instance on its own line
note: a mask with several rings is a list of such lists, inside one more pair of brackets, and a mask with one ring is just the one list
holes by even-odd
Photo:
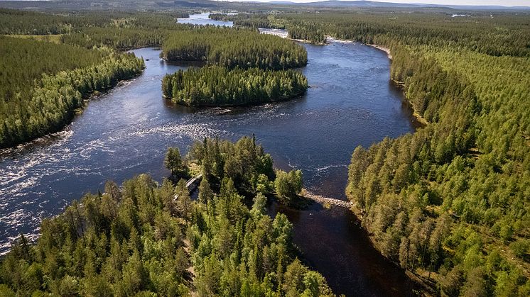
[[288, 70], [212, 66], [179, 70], [162, 80], [163, 96], [185, 106], [247, 106], [301, 96], [308, 80]]

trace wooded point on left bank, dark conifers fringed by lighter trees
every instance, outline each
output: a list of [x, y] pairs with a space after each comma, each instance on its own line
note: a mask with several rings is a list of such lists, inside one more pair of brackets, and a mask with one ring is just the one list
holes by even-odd
[[[55, 132], [83, 99], [144, 69], [144, 61], [109, 50], [83, 50], [37, 40], [0, 38], [0, 147]], [[66, 57], [66, 59], [65, 59]]]

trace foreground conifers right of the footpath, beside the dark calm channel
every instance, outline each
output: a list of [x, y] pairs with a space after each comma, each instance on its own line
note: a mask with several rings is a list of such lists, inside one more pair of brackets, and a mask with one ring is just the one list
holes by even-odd
[[258, 194], [248, 211], [225, 179], [213, 201], [198, 205], [200, 219], [188, 228], [198, 295], [334, 296], [323, 276], [293, 259], [292, 225], [266, 215], [265, 202]]

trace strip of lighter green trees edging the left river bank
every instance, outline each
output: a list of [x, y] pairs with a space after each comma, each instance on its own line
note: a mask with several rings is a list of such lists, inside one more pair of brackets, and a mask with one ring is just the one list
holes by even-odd
[[[35, 85], [23, 87], [25, 99], [17, 101], [11, 110], [2, 109], [0, 116], [6, 121], [0, 126], [0, 149], [63, 130], [90, 98], [138, 77], [144, 68], [144, 60], [134, 55], [116, 56], [110, 52], [94, 65], [77, 64], [55, 74], [42, 74], [41, 79], [35, 79]], [[27, 107], [35, 105], [38, 108]], [[16, 112], [11, 113], [13, 109]]]

